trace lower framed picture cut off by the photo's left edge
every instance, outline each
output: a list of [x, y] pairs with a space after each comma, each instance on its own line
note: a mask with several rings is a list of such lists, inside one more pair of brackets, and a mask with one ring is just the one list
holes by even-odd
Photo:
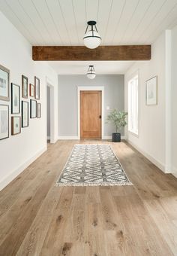
[[9, 106], [0, 105], [0, 139], [9, 137]]

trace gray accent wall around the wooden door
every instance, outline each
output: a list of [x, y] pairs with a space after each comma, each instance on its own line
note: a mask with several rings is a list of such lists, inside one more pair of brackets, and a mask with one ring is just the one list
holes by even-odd
[[[104, 86], [104, 117], [110, 110], [124, 110], [124, 75], [97, 75], [90, 80], [86, 75], [58, 75], [58, 136], [77, 136], [77, 87]], [[104, 136], [115, 132], [112, 124], [105, 123]], [[124, 130], [121, 131], [124, 136]]]

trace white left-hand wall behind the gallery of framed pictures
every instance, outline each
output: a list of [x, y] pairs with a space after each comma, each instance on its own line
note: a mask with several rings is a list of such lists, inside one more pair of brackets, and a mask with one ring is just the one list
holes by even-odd
[[[41, 119], [30, 119], [29, 126], [17, 136], [0, 141], [0, 189], [22, 172], [37, 156], [46, 150], [46, 77], [55, 86], [55, 105], [58, 105], [58, 77], [46, 62], [31, 59], [31, 45], [0, 12], [0, 64], [10, 69], [10, 81], [21, 86], [22, 75], [34, 84], [34, 75], [40, 78]], [[3, 26], [2, 26], [3, 24]], [[20, 91], [21, 93], [21, 91]], [[21, 98], [22, 99], [22, 98]], [[26, 99], [24, 99], [26, 100]], [[28, 97], [29, 102], [29, 97]], [[10, 102], [0, 101], [0, 104]], [[58, 117], [55, 108], [55, 117]], [[10, 114], [11, 117], [11, 114]], [[58, 122], [55, 122], [55, 138]]]

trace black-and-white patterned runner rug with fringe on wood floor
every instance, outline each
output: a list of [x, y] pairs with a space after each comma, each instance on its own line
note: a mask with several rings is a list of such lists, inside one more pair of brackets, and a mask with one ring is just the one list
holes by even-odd
[[110, 145], [74, 145], [57, 186], [131, 185]]

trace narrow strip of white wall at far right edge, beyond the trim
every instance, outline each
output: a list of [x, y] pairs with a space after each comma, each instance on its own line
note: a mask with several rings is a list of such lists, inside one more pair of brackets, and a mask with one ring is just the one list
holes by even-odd
[[177, 177], [177, 26], [172, 29], [172, 173]]

